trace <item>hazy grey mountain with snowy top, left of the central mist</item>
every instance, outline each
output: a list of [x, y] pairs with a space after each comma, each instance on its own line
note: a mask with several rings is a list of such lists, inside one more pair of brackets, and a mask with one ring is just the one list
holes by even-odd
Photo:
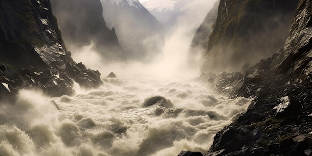
[[127, 58], [150, 61], [163, 46], [163, 25], [138, 0], [100, 0]]

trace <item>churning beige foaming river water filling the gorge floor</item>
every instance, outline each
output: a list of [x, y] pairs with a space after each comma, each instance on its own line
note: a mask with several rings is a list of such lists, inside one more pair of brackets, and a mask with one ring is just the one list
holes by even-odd
[[[206, 152], [249, 100], [189, 79], [127, 75], [73, 97], [21, 90], [0, 105], [0, 156], [176, 156]], [[54, 100], [59, 110], [51, 103]]]

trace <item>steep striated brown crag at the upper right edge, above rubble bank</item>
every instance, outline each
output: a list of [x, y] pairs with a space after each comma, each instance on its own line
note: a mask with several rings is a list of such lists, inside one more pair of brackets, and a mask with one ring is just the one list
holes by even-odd
[[301, 0], [293, 18], [290, 36], [271, 67], [279, 73], [310, 79], [312, 72], [312, 3]]

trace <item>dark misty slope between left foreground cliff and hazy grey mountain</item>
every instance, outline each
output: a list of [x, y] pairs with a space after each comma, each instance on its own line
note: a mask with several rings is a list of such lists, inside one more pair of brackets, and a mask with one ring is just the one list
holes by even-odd
[[69, 50], [93, 43], [105, 61], [124, 60], [124, 51], [103, 19], [99, 0], [51, 0], [53, 13]]

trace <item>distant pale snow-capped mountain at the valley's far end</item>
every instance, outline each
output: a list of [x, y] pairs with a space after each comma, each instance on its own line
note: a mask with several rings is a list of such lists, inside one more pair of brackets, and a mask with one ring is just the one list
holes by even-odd
[[[200, 24], [202, 17], [212, 8], [216, 0], [149, 0], [142, 3], [163, 25], [170, 29], [180, 24]], [[187, 19], [183, 19], [186, 18]]]

